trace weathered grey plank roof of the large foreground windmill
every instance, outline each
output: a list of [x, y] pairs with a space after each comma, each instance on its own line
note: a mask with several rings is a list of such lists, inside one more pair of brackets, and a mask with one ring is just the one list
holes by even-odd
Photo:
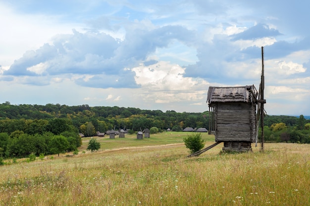
[[256, 91], [254, 85], [234, 87], [210, 86], [207, 94], [207, 103], [252, 102], [254, 98], [251, 90]]

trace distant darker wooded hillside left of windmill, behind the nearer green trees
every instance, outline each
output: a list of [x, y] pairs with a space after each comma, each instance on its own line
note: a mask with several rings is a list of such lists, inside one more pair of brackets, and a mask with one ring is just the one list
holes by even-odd
[[[92, 136], [96, 131], [105, 132], [110, 129], [126, 128], [140, 131], [140, 128], [170, 128], [180, 131], [185, 127], [205, 127], [208, 129], [208, 112], [177, 113], [173, 110], [141, 110], [139, 108], [106, 107], [88, 105], [67, 106], [60, 104], [47, 105], [11, 105], [9, 102], [0, 104], [0, 120], [28, 121], [63, 118], [71, 121], [79, 132]], [[12, 129], [8, 129], [12, 130]], [[0, 130], [1, 131], [1, 130]]]

